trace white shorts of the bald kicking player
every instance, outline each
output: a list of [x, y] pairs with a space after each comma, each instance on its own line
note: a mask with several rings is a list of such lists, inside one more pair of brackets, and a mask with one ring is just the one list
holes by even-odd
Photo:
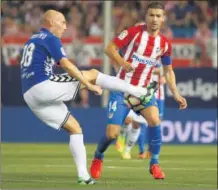
[[36, 84], [25, 92], [24, 100], [33, 113], [48, 126], [60, 129], [70, 116], [63, 101], [76, 97], [80, 82], [55, 82], [51, 80]]

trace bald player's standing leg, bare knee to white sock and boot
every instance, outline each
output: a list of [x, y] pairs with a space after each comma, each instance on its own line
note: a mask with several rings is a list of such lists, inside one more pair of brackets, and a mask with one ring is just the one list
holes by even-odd
[[83, 143], [83, 134], [79, 123], [76, 119], [74, 119], [73, 116], [70, 115], [63, 128], [70, 135], [69, 147], [76, 163], [76, 168], [78, 172], [78, 184], [95, 184], [95, 181], [90, 177], [87, 171], [86, 148]]

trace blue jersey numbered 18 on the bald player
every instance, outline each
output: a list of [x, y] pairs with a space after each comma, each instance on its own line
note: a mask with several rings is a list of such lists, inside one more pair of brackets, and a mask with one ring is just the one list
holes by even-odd
[[35, 33], [23, 48], [22, 93], [52, 75], [55, 62], [66, 57], [61, 41], [45, 28]]

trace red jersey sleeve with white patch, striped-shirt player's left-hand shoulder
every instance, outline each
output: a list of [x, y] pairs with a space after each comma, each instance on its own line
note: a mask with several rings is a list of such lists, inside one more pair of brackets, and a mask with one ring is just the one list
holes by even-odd
[[123, 30], [112, 42], [119, 48], [123, 48], [130, 43], [139, 27], [130, 27], [127, 30]]

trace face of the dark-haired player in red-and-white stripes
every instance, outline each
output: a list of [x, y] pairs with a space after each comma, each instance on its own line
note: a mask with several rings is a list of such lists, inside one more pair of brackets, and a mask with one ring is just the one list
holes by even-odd
[[159, 31], [165, 19], [164, 10], [148, 9], [145, 19], [148, 28], [152, 32]]

